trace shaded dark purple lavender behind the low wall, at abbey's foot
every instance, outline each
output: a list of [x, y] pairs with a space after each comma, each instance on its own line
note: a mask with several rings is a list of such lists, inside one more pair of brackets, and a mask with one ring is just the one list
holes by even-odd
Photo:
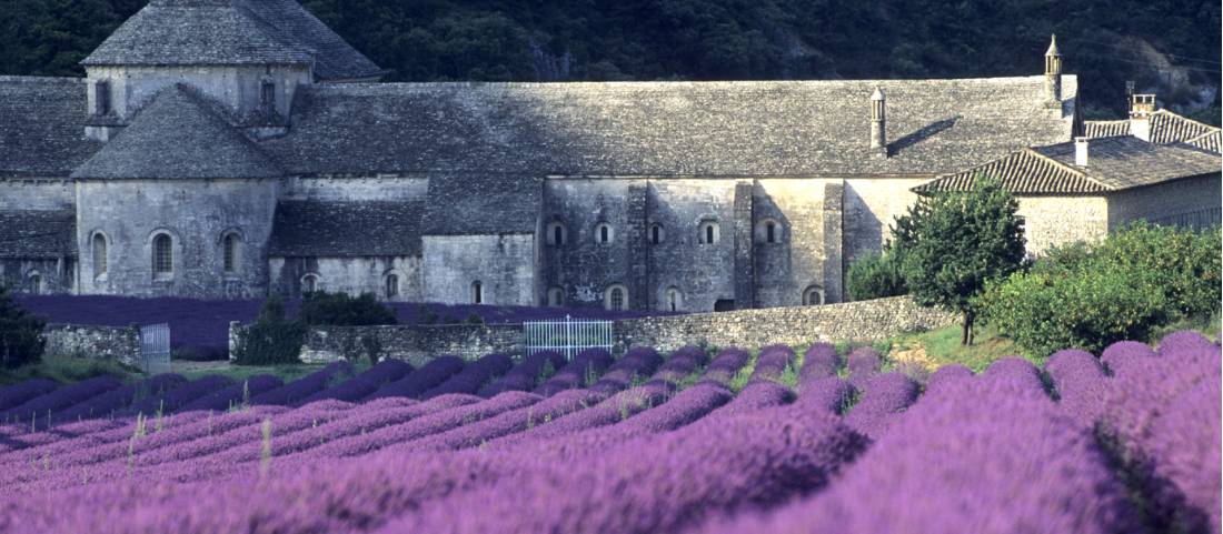
[[[251, 323], [259, 314], [263, 299], [198, 301], [193, 298], [136, 298], [110, 296], [17, 296], [17, 304], [49, 323], [130, 326], [170, 324], [170, 343], [202, 358], [224, 359], [230, 321]], [[297, 314], [301, 299], [286, 299], [289, 316]], [[534, 308], [477, 304], [386, 303], [400, 324], [432, 319], [435, 324], [460, 323], [479, 315], [487, 324], [519, 324], [530, 320], [625, 319], [646, 315], [642, 312], [608, 312], [600, 308]]]

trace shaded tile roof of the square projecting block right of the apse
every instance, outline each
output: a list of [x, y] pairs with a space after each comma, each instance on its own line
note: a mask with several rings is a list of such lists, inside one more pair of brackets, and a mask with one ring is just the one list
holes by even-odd
[[443, 235], [531, 233], [543, 202], [543, 177], [488, 172], [429, 177], [422, 232]]

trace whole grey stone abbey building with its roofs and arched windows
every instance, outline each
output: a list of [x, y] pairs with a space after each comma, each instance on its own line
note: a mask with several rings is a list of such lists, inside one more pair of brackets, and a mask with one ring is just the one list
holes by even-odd
[[294, 0], [152, 0], [83, 66], [0, 77], [20, 291], [799, 305], [981, 172], [1033, 252], [1219, 219], [1218, 130], [1145, 95], [1084, 122], [1055, 46], [1010, 78], [379, 83]]

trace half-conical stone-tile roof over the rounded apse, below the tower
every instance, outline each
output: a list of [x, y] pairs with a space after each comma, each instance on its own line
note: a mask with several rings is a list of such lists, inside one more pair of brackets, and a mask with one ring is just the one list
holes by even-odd
[[73, 178], [270, 178], [280, 167], [186, 86], [163, 89]]

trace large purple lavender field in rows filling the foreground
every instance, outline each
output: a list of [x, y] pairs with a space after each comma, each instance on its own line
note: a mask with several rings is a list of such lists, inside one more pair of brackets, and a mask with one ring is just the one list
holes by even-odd
[[1192, 332], [923, 382], [816, 345], [82, 384], [0, 390], [0, 532], [1221, 528], [1221, 351]]

